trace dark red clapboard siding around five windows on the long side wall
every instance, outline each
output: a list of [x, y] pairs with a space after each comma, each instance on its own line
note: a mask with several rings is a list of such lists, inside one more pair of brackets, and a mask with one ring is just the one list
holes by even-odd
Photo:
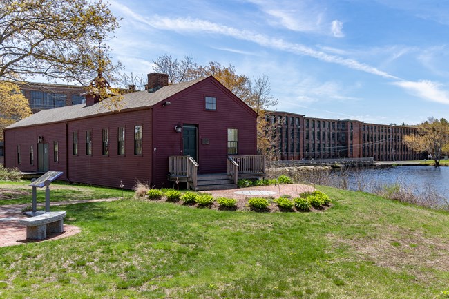
[[[134, 126], [142, 125], [142, 155], [134, 155]], [[125, 155], [118, 155], [118, 128], [125, 128]], [[109, 132], [109, 154], [102, 155], [102, 130]], [[78, 155], [73, 155], [73, 132]], [[86, 155], [86, 131], [92, 131], [92, 155]], [[151, 182], [151, 109], [77, 120], [68, 125], [69, 180], [131, 189], [137, 180]]]

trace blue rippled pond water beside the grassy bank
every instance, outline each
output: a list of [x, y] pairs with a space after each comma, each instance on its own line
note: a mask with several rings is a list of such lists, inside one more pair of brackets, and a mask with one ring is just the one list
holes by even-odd
[[[341, 175], [341, 171], [334, 171]], [[352, 168], [347, 171], [348, 189], [359, 190], [360, 184], [391, 185], [399, 183], [415, 191], [429, 186], [445, 198], [449, 198], [449, 167], [433, 166], [393, 166], [375, 168]], [[374, 184], [373, 184], [374, 183]], [[369, 187], [367, 187], [370, 192]]]

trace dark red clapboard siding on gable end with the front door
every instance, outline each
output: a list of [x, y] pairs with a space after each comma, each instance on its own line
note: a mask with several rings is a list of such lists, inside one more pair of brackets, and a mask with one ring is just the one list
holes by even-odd
[[[205, 97], [216, 97], [216, 110], [205, 110]], [[155, 183], [166, 185], [171, 155], [182, 155], [182, 133], [175, 132], [176, 124], [198, 126], [198, 170], [201, 173], [227, 171], [227, 129], [238, 129], [238, 153], [255, 155], [256, 113], [215, 79], [204, 80], [188, 90], [154, 107], [154, 144], [156, 148]], [[202, 144], [209, 139], [209, 144]], [[166, 171], [164, 171], [166, 170]]]

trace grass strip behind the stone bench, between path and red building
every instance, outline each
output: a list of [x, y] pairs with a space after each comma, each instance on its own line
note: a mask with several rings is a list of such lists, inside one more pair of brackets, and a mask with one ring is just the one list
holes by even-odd
[[[29, 181], [0, 181], [0, 205], [31, 204], [32, 188]], [[124, 197], [132, 197], [133, 191], [124, 190]], [[111, 189], [56, 181], [50, 184], [50, 202], [66, 200], [91, 200], [97, 198], [122, 197], [121, 189]], [[37, 188], [37, 202], [45, 202], [45, 188]]]

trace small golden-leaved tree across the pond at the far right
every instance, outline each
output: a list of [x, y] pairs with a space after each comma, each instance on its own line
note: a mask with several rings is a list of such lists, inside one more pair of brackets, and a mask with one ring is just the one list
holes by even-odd
[[449, 147], [449, 122], [429, 117], [417, 128], [417, 134], [404, 137], [405, 144], [414, 151], [426, 151], [432, 155], [435, 166], [439, 166], [443, 152]]

